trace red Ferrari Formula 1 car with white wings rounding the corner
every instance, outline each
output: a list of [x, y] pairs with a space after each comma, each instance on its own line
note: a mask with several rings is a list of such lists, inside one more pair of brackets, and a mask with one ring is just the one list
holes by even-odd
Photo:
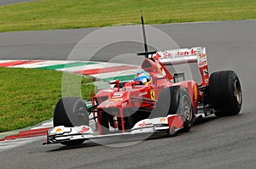
[[[145, 42], [145, 41], [144, 41]], [[204, 47], [148, 52], [141, 70], [130, 82], [110, 81], [112, 87], [91, 93], [91, 107], [79, 98], [62, 98], [55, 106], [54, 127], [45, 144], [83, 144], [84, 140], [145, 133], [189, 132], [194, 121], [207, 115], [237, 115], [242, 93], [232, 70], [209, 76]], [[170, 73], [167, 65], [197, 63], [201, 82]], [[90, 125], [89, 116], [96, 121]]]

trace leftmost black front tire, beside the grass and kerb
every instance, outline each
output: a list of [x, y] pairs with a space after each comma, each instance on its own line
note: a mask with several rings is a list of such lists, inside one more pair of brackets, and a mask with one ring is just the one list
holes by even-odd
[[89, 126], [89, 113], [84, 101], [79, 98], [62, 98], [55, 105], [54, 127]]

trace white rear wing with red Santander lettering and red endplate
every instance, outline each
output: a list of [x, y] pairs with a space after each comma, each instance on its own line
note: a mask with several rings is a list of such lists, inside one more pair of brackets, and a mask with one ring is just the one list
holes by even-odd
[[153, 59], [159, 59], [163, 65], [180, 65], [197, 62], [201, 72], [201, 86], [209, 84], [207, 64], [207, 51], [205, 47], [180, 48], [174, 50], [158, 51], [152, 55]]

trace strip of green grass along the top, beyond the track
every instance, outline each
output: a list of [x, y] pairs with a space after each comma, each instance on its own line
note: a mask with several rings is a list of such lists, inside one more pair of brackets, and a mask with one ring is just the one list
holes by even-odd
[[41, 0], [0, 6], [0, 31], [256, 19], [255, 0]]

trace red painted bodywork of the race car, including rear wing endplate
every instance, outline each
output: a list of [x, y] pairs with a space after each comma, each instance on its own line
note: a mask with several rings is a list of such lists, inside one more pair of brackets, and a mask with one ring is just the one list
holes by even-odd
[[[201, 86], [207, 86], [209, 78], [206, 73], [208, 69], [207, 61], [206, 63], [201, 63], [200, 60], [202, 57], [206, 58], [206, 55], [202, 56], [201, 54], [196, 54], [196, 51], [192, 55], [195, 55], [195, 57], [190, 61], [197, 61], [201, 71]], [[199, 91], [197, 83], [193, 80], [176, 83], [173, 82], [173, 76], [166, 69], [158, 56], [159, 55], [156, 54], [154, 58], [144, 59], [141, 65], [141, 68], [147, 71], [152, 78], [152, 81], [148, 85], [140, 85], [137, 82], [125, 82], [123, 87], [120, 87], [121, 84], [116, 80], [114, 81], [115, 87], [102, 89], [96, 93], [96, 96], [92, 96], [92, 103], [99, 104], [97, 106], [97, 123], [100, 135], [102, 134], [101, 115], [103, 112], [108, 111], [108, 114], [111, 114], [113, 118], [119, 118], [119, 129], [121, 129], [122, 132], [125, 132], [124, 118], [132, 115], [132, 113], [134, 113], [132, 110], [134, 109], [153, 110], [155, 106], [154, 100], [157, 101], [160, 91], [166, 87], [181, 86], [186, 88], [189, 93], [195, 115], [198, 102], [203, 98], [203, 93]], [[197, 59], [195, 59], [196, 56]], [[186, 61], [189, 62], [189, 59]], [[135, 101], [135, 99], [137, 99], [137, 101]], [[146, 99], [146, 102], [140, 101], [142, 99]], [[114, 124], [115, 125], [113, 127], [117, 127], [116, 121]]]

